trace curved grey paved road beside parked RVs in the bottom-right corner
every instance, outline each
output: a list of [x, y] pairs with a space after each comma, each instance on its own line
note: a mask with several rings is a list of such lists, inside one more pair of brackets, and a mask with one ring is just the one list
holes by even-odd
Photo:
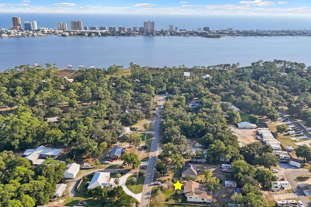
[[298, 195], [298, 199], [302, 201], [305, 207], [311, 207], [311, 202], [309, 198], [306, 196], [306, 194], [303, 192], [303, 190], [298, 186], [297, 182], [294, 180], [298, 175], [304, 175], [304, 174], [311, 175], [311, 173], [309, 173], [308, 170], [305, 170], [305, 169], [289, 170], [284, 173], [286, 179], [291, 184], [292, 189]]

